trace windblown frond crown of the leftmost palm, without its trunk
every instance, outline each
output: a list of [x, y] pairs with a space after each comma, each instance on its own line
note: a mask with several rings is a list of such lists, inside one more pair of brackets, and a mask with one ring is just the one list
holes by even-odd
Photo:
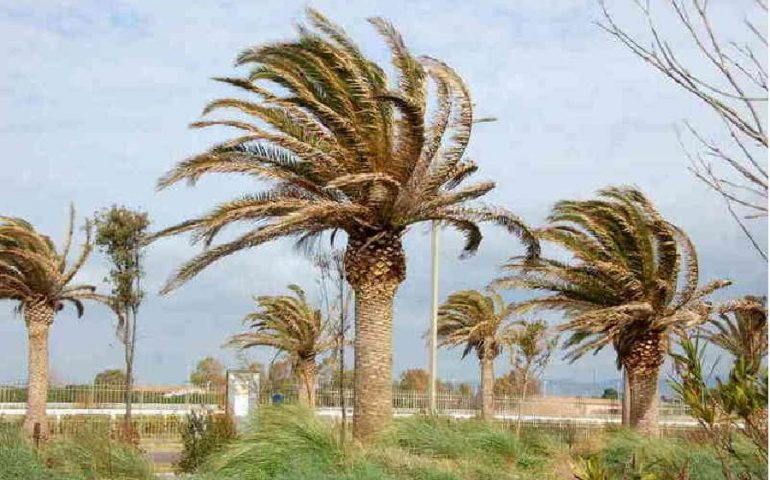
[[58, 252], [53, 241], [29, 222], [0, 216], [0, 300], [18, 302], [19, 312], [31, 304], [45, 304], [58, 311], [67, 302], [81, 316], [84, 300], [105, 304], [114, 311], [112, 298], [96, 293], [95, 286], [72, 283], [93, 248], [91, 225], [86, 221], [86, 239], [80, 254], [68, 263], [74, 225], [75, 210], [70, 208], [67, 237]]

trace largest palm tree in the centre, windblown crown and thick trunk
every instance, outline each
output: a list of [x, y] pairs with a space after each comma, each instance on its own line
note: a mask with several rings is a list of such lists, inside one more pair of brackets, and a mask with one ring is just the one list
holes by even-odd
[[[397, 72], [390, 85], [385, 71], [340, 27], [316, 11], [308, 15], [311, 26], [300, 28], [299, 39], [244, 51], [236, 63], [253, 67], [245, 78], [218, 79], [253, 100], [215, 100], [204, 113], [229, 108], [239, 113], [237, 119], [192, 124], [231, 127], [238, 136], [180, 162], [160, 180], [161, 188], [195, 183], [208, 173], [269, 181], [258, 193], [159, 233], [193, 232], [209, 247], [229, 225], [252, 227], [183, 265], [163, 291], [244, 249], [282, 237], [307, 246], [325, 232], [332, 239], [344, 232], [346, 278], [356, 302], [353, 430], [363, 439], [391, 418], [393, 299], [406, 275], [407, 229], [426, 221], [454, 227], [465, 236], [466, 254], [481, 242], [482, 221], [519, 236], [530, 255], [538, 253], [538, 244], [510, 212], [468, 205], [494, 183], [460, 187], [478, 167], [464, 155], [473, 103], [454, 70], [430, 57], [413, 57], [395, 28], [375, 18], [371, 23], [388, 43]], [[431, 81], [435, 111], [426, 115]]]

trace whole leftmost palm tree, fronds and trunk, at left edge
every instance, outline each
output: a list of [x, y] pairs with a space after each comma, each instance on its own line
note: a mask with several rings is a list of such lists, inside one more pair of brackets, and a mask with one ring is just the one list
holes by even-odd
[[0, 216], [0, 300], [18, 302], [17, 311], [27, 325], [27, 415], [23, 428], [30, 437], [47, 436], [48, 333], [56, 312], [69, 302], [75, 306], [78, 316], [82, 316], [83, 300], [94, 300], [113, 308], [111, 297], [96, 293], [94, 286], [73, 283], [93, 247], [91, 225], [86, 221], [86, 239], [80, 255], [68, 264], [74, 226], [75, 211], [70, 208], [69, 229], [60, 253], [49, 237], [37, 232], [28, 222]]

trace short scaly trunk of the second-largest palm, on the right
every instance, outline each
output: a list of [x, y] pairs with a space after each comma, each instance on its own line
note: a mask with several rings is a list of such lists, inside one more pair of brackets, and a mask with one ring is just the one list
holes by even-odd
[[658, 435], [658, 378], [665, 360], [664, 338], [650, 332], [629, 350], [623, 365], [629, 387], [629, 423], [642, 435]]

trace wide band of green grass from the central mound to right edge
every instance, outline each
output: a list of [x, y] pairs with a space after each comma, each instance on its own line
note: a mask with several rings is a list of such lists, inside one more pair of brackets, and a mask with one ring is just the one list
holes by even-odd
[[[739, 478], [767, 477], [750, 442]], [[263, 409], [239, 439], [201, 466], [195, 480], [722, 479], [719, 458], [697, 439], [647, 439], [609, 430], [568, 446], [478, 420], [412, 417], [372, 444], [341, 441], [339, 427], [299, 406]]]

